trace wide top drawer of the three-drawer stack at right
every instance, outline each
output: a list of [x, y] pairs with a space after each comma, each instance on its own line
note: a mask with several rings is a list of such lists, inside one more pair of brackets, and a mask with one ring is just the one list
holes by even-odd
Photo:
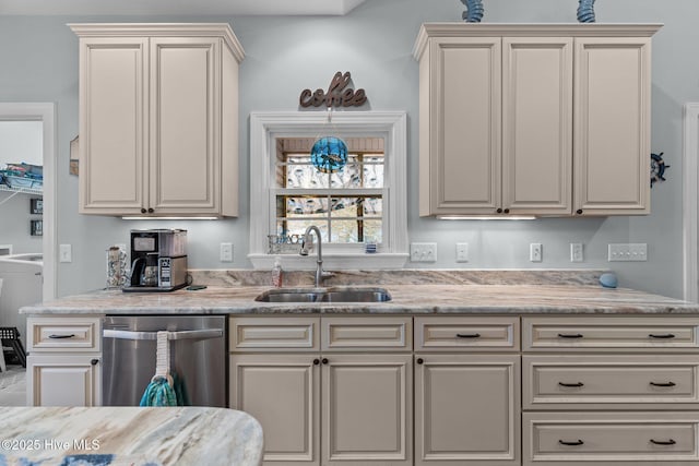
[[699, 319], [523, 318], [524, 351], [699, 350]]

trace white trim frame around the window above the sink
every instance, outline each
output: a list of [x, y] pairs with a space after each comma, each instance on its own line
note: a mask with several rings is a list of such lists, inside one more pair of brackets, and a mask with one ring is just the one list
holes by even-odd
[[[270, 199], [271, 163], [274, 141], [281, 136], [318, 136], [328, 127], [328, 115], [320, 111], [274, 111], [250, 113], [250, 253], [254, 268], [266, 268], [272, 262], [266, 252], [266, 236], [272, 215]], [[404, 111], [339, 111], [332, 115], [332, 129], [343, 136], [379, 135], [386, 140], [389, 204], [384, 230], [389, 251], [382, 254], [323, 254], [328, 268], [394, 268], [407, 260], [407, 117]], [[371, 256], [371, 258], [369, 258]], [[294, 259], [292, 259], [294, 258]], [[339, 258], [333, 261], [331, 258]], [[351, 258], [356, 258], [353, 261]], [[287, 256], [287, 265], [304, 268], [304, 258]], [[336, 264], [333, 265], [333, 262]]]

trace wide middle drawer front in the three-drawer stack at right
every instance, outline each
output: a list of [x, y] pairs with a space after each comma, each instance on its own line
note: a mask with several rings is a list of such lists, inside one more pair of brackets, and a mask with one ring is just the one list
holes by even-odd
[[[699, 409], [699, 361], [696, 356], [523, 356], [525, 409], [589, 409], [606, 404], [696, 404]], [[627, 405], [627, 406], [624, 406]], [[649, 408], [650, 409], [650, 408]]]

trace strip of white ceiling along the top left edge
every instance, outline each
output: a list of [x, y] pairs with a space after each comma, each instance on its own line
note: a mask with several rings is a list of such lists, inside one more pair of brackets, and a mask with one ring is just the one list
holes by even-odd
[[0, 15], [343, 15], [365, 0], [0, 0]]

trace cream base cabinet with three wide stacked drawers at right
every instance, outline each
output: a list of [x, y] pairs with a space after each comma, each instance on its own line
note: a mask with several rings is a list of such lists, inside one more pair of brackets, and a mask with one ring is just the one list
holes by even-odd
[[523, 316], [523, 465], [699, 464], [699, 323]]

